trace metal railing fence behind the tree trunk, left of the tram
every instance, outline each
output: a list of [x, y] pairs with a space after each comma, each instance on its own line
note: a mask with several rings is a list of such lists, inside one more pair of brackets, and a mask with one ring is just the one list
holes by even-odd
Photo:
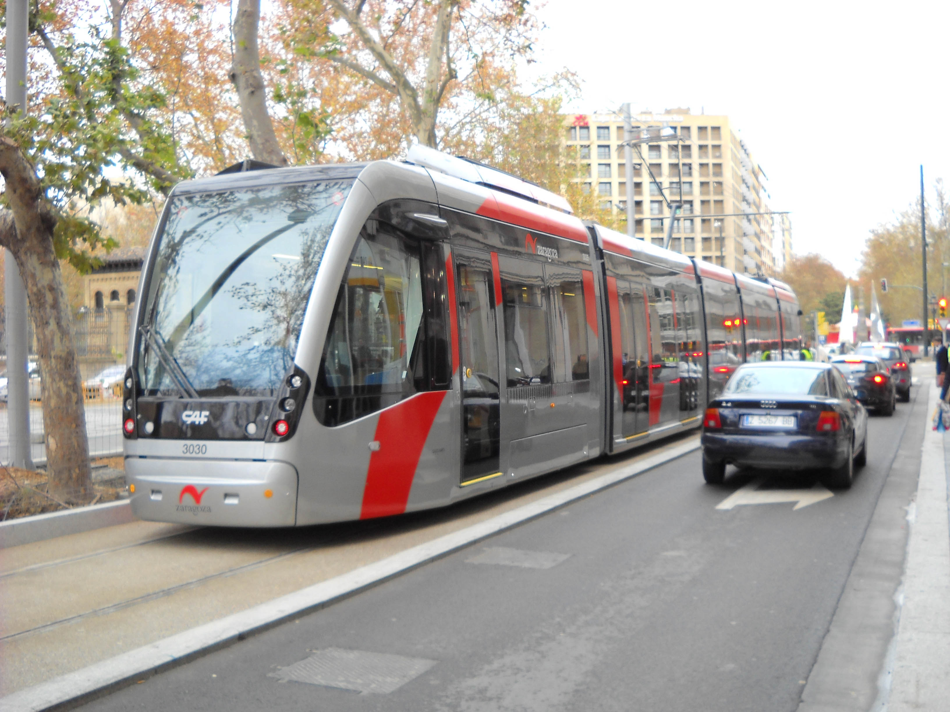
[[[122, 376], [132, 309], [80, 309], [73, 315], [72, 332], [79, 358], [85, 402], [85, 431], [90, 458], [122, 454]], [[36, 338], [30, 320], [29, 363], [38, 365]], [[6, 340], [0, 342], [0, 364], [6, 365]], [[29, 383], [30, 453], [34, 465], [46, 463], [43, 422], [42, 373], [34, 371]], [[0, 462], [10, 461], [10, 427], [6, 403], [0, 403]]]

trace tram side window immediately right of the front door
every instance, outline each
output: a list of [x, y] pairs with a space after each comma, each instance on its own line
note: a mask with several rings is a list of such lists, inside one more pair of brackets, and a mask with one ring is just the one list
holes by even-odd
[[502, 280], [507, 384], [551, 383], [547, 298], [541, 284]]

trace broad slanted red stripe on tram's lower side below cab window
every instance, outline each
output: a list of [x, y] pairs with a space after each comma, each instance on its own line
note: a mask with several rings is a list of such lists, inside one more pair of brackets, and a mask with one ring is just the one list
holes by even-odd
[[446, 390], [417, 393], [379, 414], [373, 440], [379, 449], [370, 456], [360, 519], [401, 515], [428, 433]]

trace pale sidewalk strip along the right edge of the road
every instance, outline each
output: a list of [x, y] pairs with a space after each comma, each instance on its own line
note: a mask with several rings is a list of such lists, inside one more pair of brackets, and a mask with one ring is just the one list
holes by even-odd
[[[908, 508], [910, 539], [888, 712], [950, 710], [950, 434], [932, 429], [939, 391], [929, 385], [917, 497]], [[928, 387], [924, 386], [924, 387]]]

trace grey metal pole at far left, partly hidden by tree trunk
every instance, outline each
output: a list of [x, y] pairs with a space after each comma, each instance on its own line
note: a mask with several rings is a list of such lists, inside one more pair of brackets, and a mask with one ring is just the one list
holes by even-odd
[[[28, 0], [7, 0], [7, 104], [27, 110]], [[10, 465], [32, 469], [29, 452], [27, 288], [10, 250], [4, 259], [7, 317], [7, 422]]]

